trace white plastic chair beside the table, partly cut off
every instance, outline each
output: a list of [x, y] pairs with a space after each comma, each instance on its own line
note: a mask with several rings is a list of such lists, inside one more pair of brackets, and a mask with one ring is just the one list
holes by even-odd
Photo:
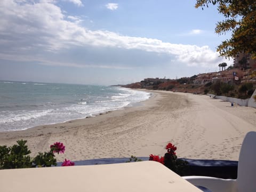
[[256, 132], [246, 134], [239, 154], [237, 179], [220, 179], [203, 176], [183, 177], [195, 186], [215, 192], [256, 191]]

